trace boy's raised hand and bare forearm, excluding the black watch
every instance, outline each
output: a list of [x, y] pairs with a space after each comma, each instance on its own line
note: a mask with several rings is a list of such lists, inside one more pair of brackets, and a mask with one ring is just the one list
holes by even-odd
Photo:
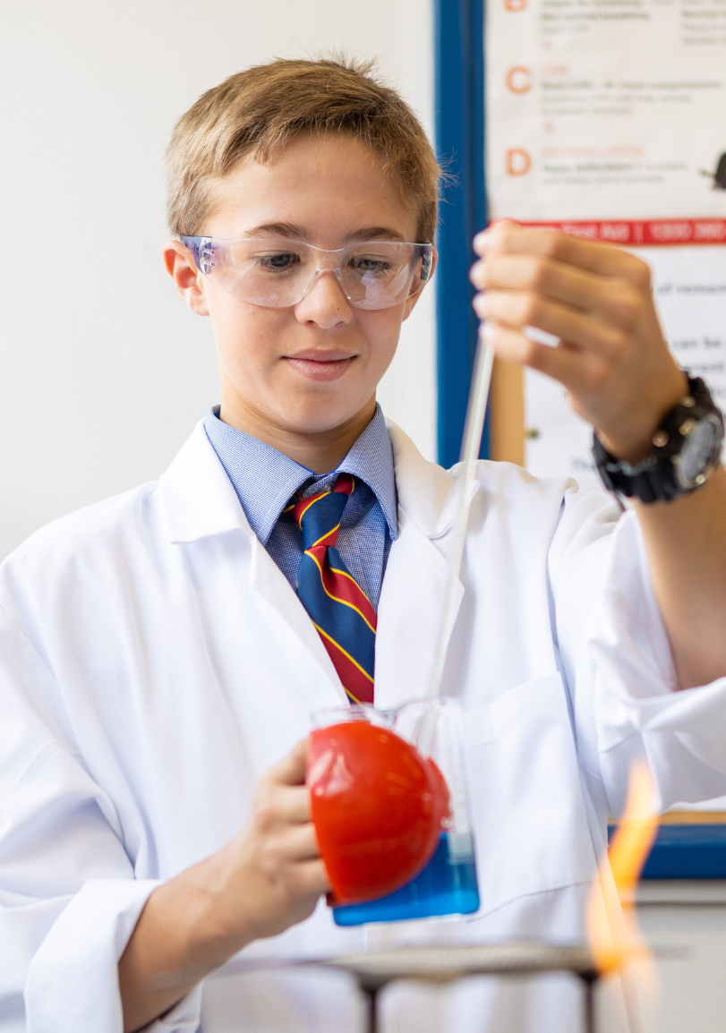
[[[565, 385], [575, 412], [619, 459], [637, 463], [687, 393], [658, 325], [648, 265], [609, 244], [500, 222], [474, 246], [475, 308], [504, 359]], [[526, 326], [555, 334], [537, 344]], [[633, 500], [678, 688], [726, 676], [726, 471], [667, 503]]]

